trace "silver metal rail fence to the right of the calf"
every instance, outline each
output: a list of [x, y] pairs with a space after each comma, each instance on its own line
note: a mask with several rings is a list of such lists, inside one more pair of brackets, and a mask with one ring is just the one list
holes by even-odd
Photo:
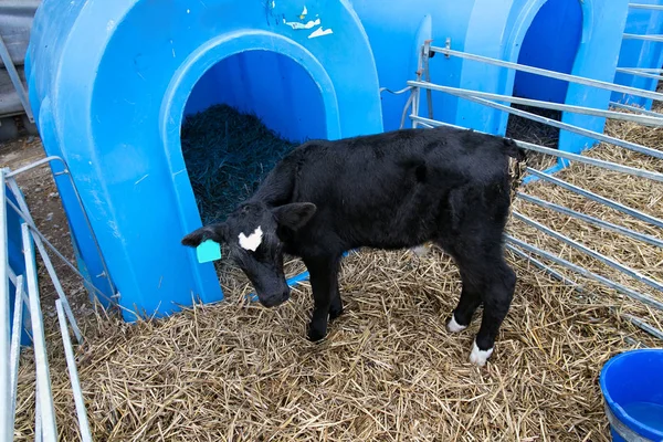
[[[629, 35], [625, 35], [625, 38], [629, 38]], [[657, 38], [657, 36], [655, 36], [655, 38]], [[448, 40], [448, 42], [449, 42], [449, 40]], [[520, 116], [520, 117], [524, 117], [524, 118], [527, 118], [530, 120], [546, 124], [548, 126], [557, 127], [561, 130], [567, 130], [567, 131], [576, 133], [579, 135], [588, 136], [588, 137], [597, 139], [599, 141], [603, 141], [603, 143], [607, 143], [607, 144], [610, 144], [613, 146], [619, 146], [619, 147], [627, 148], [627, 149], [630, 149], [633, 151], [638, 151], [640, 154], [648, 155], [652, 158], [663, 159], [663, 151], [661, 151], [659, 149], [650, 148], [646, 146], [641, 146], [641, 145], [638, 145], [634, 143], [629, 143], [629, 141], [625, 141], [620, 138], [610, 137], [608, 135], [594, 133], [594, 131], [591, 131], [591, 130], [588, 130], [588, 129], [585, 129], [585, 128], [581, 128], [578, 126], [565, 124], [565, 123], [557, 122], [557, 120], [554, 120], [550, 118], [545, 118], [539, 115], [528, 113], [525, 110], [515, 109], [515, 108], [509, 107], [506, 104], [508, 104], [508, 103], [524, 104], [524, 105], [530, 105], [530, 106], [539, 107], [539, 108], [556, 109], [556, 110], [561, 110], [561, 112], [571, 112], [571, 113], [583, 114], [583, 115], [593, 115], [593, 116], [600, 116], [600, 117], [604, 117], [604, 118], [630, 120], [630, 122], [634, 122], [634, 123], [648, 125], [648, 126], [653, 126], [653, 127], [662, 127], [662, 123], [663, 123], [662, 114], [641, 109], [635, 106], [629, 106], [629, 105], [623, 105], [623, 104], [618, 104], [618, 103], [611, 103], [611, 105], [613, 105], [617, 108], [623, 108], [627, 110], [635, 112], [638, 115], [619, 113], [619, 112], [613, 112], [613, 110], [593, 109], [593, 108], [588, 108], [588, 107], [582, 107], [582, 106], [569, 106], [569, 105], [548, 103], [548, 102], [541, 102], [541, 101], [536, 101], [536, 99], [513, 97], [513, 96], [507, 96], [507, 95], [503, 95], [503, 94], [494, 94], [494, 93], [488, 93], [488, 92], [471, 91], [471, 90], [465, 90], [465, 88], [461, 88], [461, 87], [451, 87], [451, 86], [445, 86], [445, 85], [433, 84], [428, 80], [428, 78], [430, 78], [429, 60], [430, 60], [431, 54], [433, 54], [435, 52], [439, 52], [446, 56], [457, 56], [457, 57], [461, 57], [464, 60], [472, 60], [472, 61], [482, 62], [482, 63], [486, 63], [486, 64], [491, 64], [491, 65], [502, 66], [505, 69], [528, 72], [530, 74], [568, 81], [568, 82], [572, 82], [572, 83], [577, 83], [577, 84], [582, 84], [586, 86], [598, 87], [598, 88], [624, 93], [624, 94], [629, 94], [629, 95], [651, 98], [654, 101], [663, 101], [663, 94], [660, 94], [657, 92], [650, 92], [650, 91], [639, 90], [639, 88], [629, 87], [629, 86], [621, 86], [621, 85], [617, 85], [617, 84], [612, 84], [612, 83], [596, 81], [596, 80], [591, 80], [591, 78], [583, 78], [583, 77], [579, 77], [576, 75], [564, 74], [564, 73], [559, 73], [559, 72], [526, 66], [526, 65], [522, 65], [518, 63], [512, 63], [512, 62], [506, 62], [506, 61], [502, 61], [502, 60], [497, 60], [497, 59], [491, 59], [491, 57], [486, 57], [486, 56], [482, 56], [482, 55], [477, 55], [477, 54], [470, 54], [470, 53], [462, 52], [462, 51], [455, 51], [455, 50], [452, 50], [451, 48], [449, 48], [449, 43], [448, 43], [448, 48], [438, 48], [438, 46], [431, 46], [430, 43], [427, 42], [423, 44], [423, 46], [421, 48], [421, 52], [419, 53], [419, 71], [417, 73], [417, 81], [408, 82], [408, 86], [411, 87], [411, 90], [410, 90], [411, 96], [410, 96], [410, 99], [408, 99], [408, 103], [403, 110], [403, 115], [407, 115], [408, 109], [410, 109], [409, 115], [410, 115], [410, 120], [412, 123], [412, 127], [422, 126], [422, 127], [433, 128], [433, 127], [438, 127], [438, 126], [452, 126], [452, 127], [456, 127], [456, 128], [466, 129], [465, 127], [460, 127], [460, 126], [452, 125], [452, 124], [449, 124], [445, 122], [440, 122], [440, 120], [436, 120], [433, 118], [433, 109], [432, 109], [430, 94], [432, 92], [446, 93], [446, 94], [456, 96], [462, 99], [467, 99], [467, 101], [471, 101], [474, 103], [478, 103], [478, 104], [482, 104], [482, 105], [485, 105], [488, 107], [496, 108], [502, 112], [506, 112], [508, 114], [517, 115], [517, 116]], [[620, 72], [624, 72], [624, 73], [629, 73], [629, 74], [638, 74], [638, 75], [644, 74], [644, 76], [653, 76], [655, 78], [661, 78], [661, 76], [659, 74], [662, 73], [663, 70], [621, 69]], [[423, 78], [427, 78], [427, 80], [423, 80]], [[421, 96], [422, 91], [425, 91], [427, 97], [428, 97], [428, 101], [427, 101], [428, 106], [429, 106], [429, 108], [428, 108], [429, 117], [428, 118], [420, 115], [420, 103], [421, 103], [420, 96]], [[407, 92], [407, 90], [403, 90], [400, 92], [403, 93], [403, 92]], [[567, 166], [568, 162], [580, 162], [580, 164], [585, 164], [590, 167], [599, 167], [599, 168], [602, 168], [606, 170], [625, 173], [625, 175], [629, 175], [632, 177], [638, 177], [641, 179], [652, 180], [652, 181], [656, 181], [656, 182], [663, 182], [663, 180], [662, 180], [663, 175], [657, 171], [654, 171], [654, 170], [645, 170], [642, 168], [630, 167], [630, 166], [625, 166], [625, 165], [621, 165], [621, 164], [617, 164], [617, 162], [612, 162], [612, 161], [599, 160], [599, 159], [591, 158], [591, 157], [588, 157], [585, 155], [576, 155], [576, 154], [570, 154], [570, 152], [566, 152], [566, 151], [560, 151], [558, 149], [552, 149], [552, 148], [539, 146], [539, 145], [532, 144], [532, 143], [525, 143], [525, 141], [517, 140], [517, 139], [515, 141], [519, 147], [522, 147], [526, 150], [536, 151], [539, 154], [545, 154], [545, 155], [550, 155], [550, 156], [557, 157], [557, 158], [561, 159], [562, 161], [565, 161], [564, 166]], [[644, 213], [644, 212], [636, 210], [634, 208], [631, 208], [627, 204], [622, 204], [618, 201], [599, 196], [590, 190], [575, 186], [575, 185], [567, 182], [558, 177], [551, 176], [547, 171], [536, 170], [530, 167], [527, 167], [526, 175], [527, 175], [527, 177], [547, 181], [551, 185], [560, 187], [561, 189], [565, 189], [566, 191], [570, 191], [570, 192], [581, 196], [588, 200], [600, 203], [607, 208], [622, 212], [622, 213], [624, 213], [629, 217], [632, 217], [636, 220], [646, 222], [656, 229], [663, 229], [663, 220], [659, 219], [657, 217]], [[597, 217], [592, 217], [591, 214], [581, 213], [577, 210], [572, 210], [570, 208], [567, 208], [567, 207], [556, 203], [556, 202], [545, 201], [540, 198], [527, 194], [525, 191], [523, 191], [526, 189], [527, 189], [527, 187], [525, 186], [518, 192], [517, 197], [527, 203], [538, 206], [546, 210], [551, 210], [551, 211], [561, 213], [566, 217], [573, 218], [580, 222], [588, 223], [598, 229], [609, 230], [619, 235], [627, 236], [633, 241], [638, 241], [638, 242], [642, 242], [643, 244], [648, 244], [649, 246], [663, 249], [663, 240], [661, 240], [660, 238], [656, 238], [656, 236], [650, 235], [650, 234], [644, 234], [641, 232], [636, 232], [632, 229], [628, 229], [625, 227], [601, 220]], [[620, 263], [618, 260], [615, 260], [611, 256], [606, 256], [604, 254], [597, 252], [592, 248], [587, 246], [565, 234], [561, 234], [560, 232], [557, 232], [556, 230], [550, 229], [547, 225], [544, 225], [543, 223], [540, 223], [536, 220], [533, 220], [533, 219], [519, 213], [516, 210], [512, 211], [512, 215], [514, 217], [514, 219], [517, 219], [520, 222], [524, 222], [525, 224], [529, 225], [530, 228], [535, 229], [536, 231], [541, 232], [544, 235], [546, 235], [566, 246], [570, 246], [571, 249], [576, 250], [578, 253], [585, 254], [614, 271], [618, 271], [631, 278], [634, 278], [635, 281], [639, 281], [640, 283], [645, 284], [646, 286], [651, 287], [652, 290], [654, 290], [659, 293], [663, 293], [663, 282], [656, 281], [655, 278], [644, 275], [641, 272]], [[545, 273], [549, 274], [550, 276], [555, 277], [556, 280], [560, 281], [561, 283], [572, 286], [573, 288], [576, 288], [578, 291], [582, 290], [581, 286], [579, 286], [576, 282], [571, 281], [570, 278], [568, 278], [567, 276], [565, 276], [557, 270], [549, 266], [547, 263], [552, 263], [557, 266], [572, 271], [573, 273], [577, 273], [583, 277], [593, 280], [607, 287], [615, 290], [618, 293], [621, 293], [622, 295], [625, 295], [639, 303], [642, 303], [643, 305], [653, 307], [659, 311], [663, 311], [663, 302], [662, 301], [654, 298], [648, 294], [640, 293], [639, 291], [634, 290], [633, 287], [618, 283], [610, 277], [606, 277], [596, 272], [589, 271], [581, 265], [578, 265], [573, 262], [562, 259], [561, 256], [559, 256], [555, 253], [543, 250], [538, 246], [535, 246], [535, 245], [529, 244], [525, 241], [522, 241], [517, 238], [514, 238], [513, 235], [508, 235], [508, 234], [506, 235], [506, 249], [512, 251], [515, 255], [529, 261], [532, 264], [541, 269]], [[648, 325], [646, 322], [644, 322], [643, 319], [631, 317], [631, 318], [629, 318], [629, 322], [632, 323], [633, 325], [638, 326], [642, 330], [651, 334], [652, 336], [655, 336], [657, 338], [663, 338], [663, 334], [660, 330]]]

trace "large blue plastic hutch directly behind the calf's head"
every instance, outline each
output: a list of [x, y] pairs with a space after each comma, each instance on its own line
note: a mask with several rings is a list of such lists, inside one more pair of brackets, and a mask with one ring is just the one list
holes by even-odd
[[[44, 147], [69, 164], [118, 303], [147, 315], [222, 298], [213, 264], [180, 244], [201, 225], [186, 114], [225, 103], [292, 140], [382, 131], [373, 56], [346, 1], [44, 0], [27, 71]], [[94, 278], [94, 244], [61, 196]]]

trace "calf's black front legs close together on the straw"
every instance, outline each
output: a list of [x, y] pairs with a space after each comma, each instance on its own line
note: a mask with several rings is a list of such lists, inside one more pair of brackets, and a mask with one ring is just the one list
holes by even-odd
[[304, 259], [311, 275], [313, 288], [313, 315], [308, 326], [308, 339], [318, 341], [327, 335], [329, 317], [338, 317], [343, 312], [338, 293], [339, 256]]

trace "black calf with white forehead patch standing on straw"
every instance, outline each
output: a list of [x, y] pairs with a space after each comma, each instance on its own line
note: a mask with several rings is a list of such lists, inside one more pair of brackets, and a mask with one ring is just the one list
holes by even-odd
[[288, 298], [283, 253], [311, 273], [315, 307], [308, 337], [319, 340], [343, 313], [338, 269], [344, 252], [393, 250], [434, 241], [460, 267], [463, 290], [448, 323], [461, 332], [483, 303], [471, 361], [484, 365], [516, 283], [504, 261], [509, 211], [508, 139], [455, 128], [404, 129], [306, 143], [286, 156], [224, 223], [182, 240], [230, 244], [261, 303]]

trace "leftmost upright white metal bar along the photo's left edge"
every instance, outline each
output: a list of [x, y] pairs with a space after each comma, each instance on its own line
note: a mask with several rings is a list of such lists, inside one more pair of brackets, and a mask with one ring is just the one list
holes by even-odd
[[0, 170], [0, 439], [13, 439], [13, 423], [10, 421], [11, 410], [11, 373], [9, 361], [10, 328], [9, 328], [9, 266], [7, 204], [4, 204], [4, 170]]

